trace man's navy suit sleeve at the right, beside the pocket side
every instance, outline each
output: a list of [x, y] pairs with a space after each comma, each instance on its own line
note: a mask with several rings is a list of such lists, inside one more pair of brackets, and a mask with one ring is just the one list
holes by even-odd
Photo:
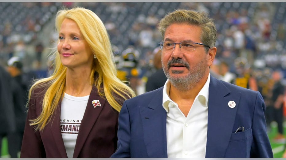
[[257, 92], [253, 115], [253, 145], [250, 158], [273, 158], [272, 148], [268, 139], [265, 122], [265, 103], [259, 92]]

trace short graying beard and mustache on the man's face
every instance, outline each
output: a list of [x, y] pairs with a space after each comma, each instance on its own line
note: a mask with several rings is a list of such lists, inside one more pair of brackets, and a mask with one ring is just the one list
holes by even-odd
[[[170, 64], [172, 62], [174, 63], [174, 61], [176, 61], [176, 63], [181, 63], [181, 64], [185, 65], [187, 67], [187, 69], [189, 69], [189, 74], [187, 74], [186, 76], [183, 76], [183, 77], [170, 76], [168, 69], [170, 68]], [[202, 79], [202, 77], [206, 73], [206, 67], [208, 67], [206, 59], [203, 59], [202, 61], [200, 61], [193, 68], [190, 68], [190, 65], [187, 62], [182, 61], [182, 59], [179, 59], [179, 60], [169, 61], [167, 64], [167, 67], [166, 66], [163, 67], [163, 71], [164, 71], [164, 74], [166, 75], [166, 77], [170, 80], [170, 83], [175, 88], [177, 88], [179, 91], [188, 91], [188, 90], [194, 88], [198, 84], [198, 82]], [[172, 73], [173, 74], [181, 74], [182, 71], [172, 71]]]

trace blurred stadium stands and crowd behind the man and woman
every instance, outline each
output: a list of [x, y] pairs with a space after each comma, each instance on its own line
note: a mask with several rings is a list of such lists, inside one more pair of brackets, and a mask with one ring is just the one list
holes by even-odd
[[118, 75], [130, 80], [138, 95], [156, 70], [153, 56], [162, 41], [157, 23], [177, 8], [204, 11], [214, 19], [213, 76], [260, 91], [264, 100], [271, 99], [274, 71], [286, 85], [286, 2], [0, 2], [0, 65], [18, 57], [30, 77], [48, 76], [49, 53], [58, 39], [54, 17], [63, 6], [82, 6], [100, 17], [112, 41]]

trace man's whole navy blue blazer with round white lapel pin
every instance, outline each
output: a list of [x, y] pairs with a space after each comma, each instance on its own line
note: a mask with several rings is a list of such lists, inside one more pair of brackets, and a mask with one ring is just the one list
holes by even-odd
[[[163, 87], [126, 100], [112, 158], [167, 158]], [[229, 101], [236, 106], [228, 106]], [[210, 77], [206, 158], [272, 158], [258, 91]], [[244, 132], [236, 132], [243, 126]], [[190, 142], [191, 143], [191, 142]]]

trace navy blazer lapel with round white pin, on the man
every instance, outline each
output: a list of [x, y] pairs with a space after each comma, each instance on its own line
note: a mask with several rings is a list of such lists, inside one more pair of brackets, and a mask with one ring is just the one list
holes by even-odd
[[[240, 96], [241, 93], [231, 94], [221, 81], [211, 76], [206, 158], [224, 157], [232, 133]], [[229, 107], [229, 101], [234, 101], [236, 107]]]

